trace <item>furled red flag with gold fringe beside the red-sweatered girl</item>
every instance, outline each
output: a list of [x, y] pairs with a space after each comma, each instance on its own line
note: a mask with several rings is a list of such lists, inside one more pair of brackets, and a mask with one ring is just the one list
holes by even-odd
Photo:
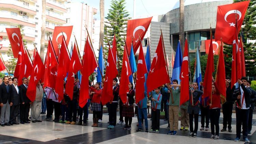
[[225, 77], [225, 62], [223, 55], [223, 46], [220, 46], [219, 49], [219, 60], [217, 64], [217, 72], [216, 72], [216, 88], [218, 92], [221, 94], [222, 103], [226, 102], [226, 77]]

